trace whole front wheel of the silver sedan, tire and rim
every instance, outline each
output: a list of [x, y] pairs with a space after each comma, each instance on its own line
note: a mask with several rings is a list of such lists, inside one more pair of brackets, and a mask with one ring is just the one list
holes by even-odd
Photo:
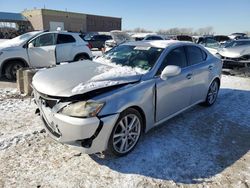
[[142, 118], [135, 109], [121, 113], [109, 138], [109, 151], [116, 156], [130, 153], [139, 141], [142, 132]]

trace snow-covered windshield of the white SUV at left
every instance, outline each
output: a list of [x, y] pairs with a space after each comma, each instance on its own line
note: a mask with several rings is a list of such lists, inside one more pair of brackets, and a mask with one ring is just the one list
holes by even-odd
[[21, 45], [23, 42], [31, 39], [33, 36], [37, 35], [41, 33], [41, 31], [33, 31], [33, 32], [29, 32], [29, 33], [25, 33], [23, 35], [20, 35], [18, 37], [15, 37], [13, 39], [7, 40], [3, 43], [3, 45], [10, 45], [10, 46], [19, 46]]

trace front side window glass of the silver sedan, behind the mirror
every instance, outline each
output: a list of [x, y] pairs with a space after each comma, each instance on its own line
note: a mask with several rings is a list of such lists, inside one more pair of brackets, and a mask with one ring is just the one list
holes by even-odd
[[187, 66], [187, 58], [185, 54], [184, 47], [178, 47], [169, 52], [169, 54], [165, 57], [163, 60], [161, 67], [159, 68], [157, 75], [160, 75], [163, 69], [167, 65], [176, 65], [181, 68], [184, 68]]

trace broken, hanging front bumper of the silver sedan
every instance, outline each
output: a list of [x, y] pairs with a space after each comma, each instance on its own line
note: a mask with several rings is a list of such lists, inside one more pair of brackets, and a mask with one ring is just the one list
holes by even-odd
[[109, 137], [119, 114], [102, 118], [76, 118], [59, 114], [40, 101], [35, 93], [36, 103], [45, 129], [54, 140], [70, 145], [82, 153], [93, 154], [105, 151]]

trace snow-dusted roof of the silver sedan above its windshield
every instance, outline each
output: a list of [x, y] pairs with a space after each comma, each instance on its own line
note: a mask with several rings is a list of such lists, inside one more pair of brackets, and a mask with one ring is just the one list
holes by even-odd
[[178, 41], [178, 40], [153, 40], [153, 41], [128, 42], [123, 45], [167, 48], [169, 46], [177, 44], [193, 44], [193, 43], [187, 41]]

